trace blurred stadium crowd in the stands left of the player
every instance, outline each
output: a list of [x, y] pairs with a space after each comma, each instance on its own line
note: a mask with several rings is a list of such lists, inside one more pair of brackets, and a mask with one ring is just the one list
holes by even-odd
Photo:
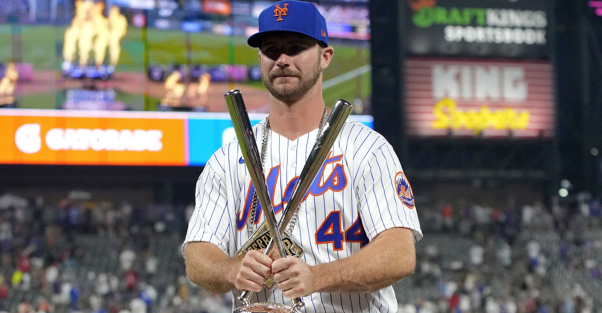
[[91, 198], [0, 196], [0, 312], [231, 312], [229, 295], [185, 276], [179, 245], [192, 206]]

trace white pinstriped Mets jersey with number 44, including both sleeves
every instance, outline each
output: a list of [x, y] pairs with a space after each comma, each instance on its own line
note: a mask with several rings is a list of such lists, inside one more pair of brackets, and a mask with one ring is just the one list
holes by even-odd
[[[258, 147], [264, 123], [253, 127]], [[283, 202], [290, 199], [317, 133], [315, 129], [290, 141], [270, 131], [264, 171], [276, 220], [282, 217]], [[410, 228], [416, 241], [422, 238], [411, 187], [393, 148], [379, 133], [348, 119], [324, 164], [292, 233], [305, 249], [306, 263], [349, 257], [388, 228]], [[253, 190], [238, 142], [217, 150], [197, 181], [196, 208], [185, 243], [214, 243], [234, 257], [249, 239], [246, 222]], [[263, 220], [258, 205], [255, 225]], [[235, 299], [240, 291], [232, 295]], [[291, 305], [278, 288], [254, 294], [253, 301]], [[393, 287], [374, 293], [314, 293], [303, 301], [302, 312], [397, 312]]]

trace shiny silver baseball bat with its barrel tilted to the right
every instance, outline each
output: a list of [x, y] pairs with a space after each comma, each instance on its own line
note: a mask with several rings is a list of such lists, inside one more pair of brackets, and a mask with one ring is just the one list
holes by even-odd
[[[297, 180], [297, 184], [293, 189], [293, 195], [288, 201], [287, 207], [284, 208], [282, 213], [283, 215], [278, 223], [280, 234], [287, 229], [288, 223], [293, 218], [296, 208], [299, 207], [301, 202], [303, 202], [309, 187], [311, 187], [311, 184], [314, 183], [315, 177], [318, 174], [318, 171], [320, 171], [322, 168], [322, 165], [324, 165], [324, 161], [326, 161], [326, 157], [328, 156], [332, 145], [334, 145], [339, 133], [341, 133], [343, 125], [345, 124], [347, 117], [349, 117], [351, 109], [352, 106], [345, 100], [339, 99], [337, 103], [335, 103], [335, 106], [332, 109], [332, 112], [330, 112], [320, 136], [316, 140], [311, 153], [309, 153], [309, 157], [305, 162], [305, 166], [303, 166], [303, 170], [299, 175], [299, 180]], [[267, 245], [267, 248], [265, 248], [264, 254], [270, 255], [275, 245], [278, 245], [278, 242], [275, 242], [274, 238], [272, 237]], [[240, 297], [238, 297], [238, 299], [243, 302], [243, 299], [249, 301], [252, 294], [253, 291], [246, 290], [243, 292], [243, 294], [241, 294]]]

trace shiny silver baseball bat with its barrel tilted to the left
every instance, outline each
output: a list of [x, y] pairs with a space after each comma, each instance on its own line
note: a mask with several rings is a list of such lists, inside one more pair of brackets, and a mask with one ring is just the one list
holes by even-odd
[[[255, 141], [255, 135], [253, 134], [253, 128], [249, 120], [249, 114], [247, 114], [247, 108], [244, 105], [243, 96], [240, 90], [228, 91], [224, 95], [226, 99], [226, 105], [228, 105], [228, 111], [232, 118], [232, 124], [238, 138], [238, 144], [240, 150], [243, 153], [244, 163], [249, 170], [249, 175], [255, 190], [259, 203], [261, 203], [261, 209], [267, 220], [270, 234], [272, 234], [272, 240], [275, 242], [278, 255], [281, 258], [287, 257], [287, 252], [282, 244], [282, 233], [278, 231], [276, 222], [276, 216], [274, 214], [274, 208], [272, 207], [272, 199], [270, 193], [267, 190], [267, 184], [265, 183], [265, 174], [263, 166], [261, 165], [261, 156], [259, 156], [259, 150], [257, 148], [257, 142]], [[246, 299], [246, 298], [245, 298]], [[302, 308], [305, 303], [301, 298], [293, 299], [293, 305], [296, 308]]]

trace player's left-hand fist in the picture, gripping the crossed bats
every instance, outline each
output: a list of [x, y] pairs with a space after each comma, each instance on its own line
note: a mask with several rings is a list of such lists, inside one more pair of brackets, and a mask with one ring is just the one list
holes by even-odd
[[265, 279], [272, 274], [272, 259], [257, 250], [250, 250], [238, 262], [234, 287], [238, 290], [261, 291]]

